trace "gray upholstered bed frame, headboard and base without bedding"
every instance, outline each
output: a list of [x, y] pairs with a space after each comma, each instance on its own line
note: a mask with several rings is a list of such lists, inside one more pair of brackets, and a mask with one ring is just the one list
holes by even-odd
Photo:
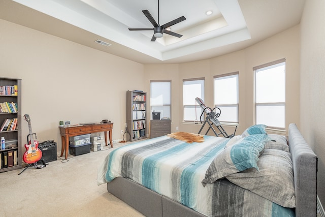
[[[288, 141], [295, 176], [296, 216], [316, 216], [317, 156], [295, 123], [289, 125]], [[108, 183], [107, 190], [146, 216], [206, 216], [123, 177]]]

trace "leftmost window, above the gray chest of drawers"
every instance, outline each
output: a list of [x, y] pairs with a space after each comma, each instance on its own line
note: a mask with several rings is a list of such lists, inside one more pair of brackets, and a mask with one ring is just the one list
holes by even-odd
[[150, 81], [150, 109], [171, 118], [171, 81]]

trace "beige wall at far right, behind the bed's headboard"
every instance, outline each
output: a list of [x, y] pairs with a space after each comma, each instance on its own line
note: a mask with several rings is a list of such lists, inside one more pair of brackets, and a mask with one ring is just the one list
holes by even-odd
[[308, 0], [301, 20], [301, 132], [318, 157], [317, 194], [325, 204], [325, 2]]

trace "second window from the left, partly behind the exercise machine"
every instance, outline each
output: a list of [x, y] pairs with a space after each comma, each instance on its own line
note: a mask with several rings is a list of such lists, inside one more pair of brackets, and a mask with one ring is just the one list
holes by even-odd
[[[204, 78], [183, 80], [184, 121], [199, 121], [202, 109], [196, 105], [195, 98], [204, 100]], [[203, 118], [203, 117], [202, 117]]]

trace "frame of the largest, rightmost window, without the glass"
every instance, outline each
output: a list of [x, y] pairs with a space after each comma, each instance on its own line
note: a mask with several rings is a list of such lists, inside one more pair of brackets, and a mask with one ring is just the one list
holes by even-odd
[[[257, 92], [257, 87], [256, 87], [256, 71], [257, 70], [261, 70], [263, 68], [267, 68], [267, 67], [271, 67], [274, 65], [278, 65], [278, 64], [282, 64], [284, 63], [284, 70], [285, 70], [285, 74], [284, 74], [284, 102], [264, 102], [264, 103], [257, 103], [256, 102], [256, 92]], [[254, 123], [257, 124], [257, 105], [259, 106], [276, 106], [276, 105], [283, 105], [284, 106], [284, 127], [276, 127], [276, 126], [268, 126], [268, 128], [270, 129], [274, 129], [274, 130], [285, 130], [285, 121], [286, 121], [286, 98], [285, 98], [285, 90], [286, 90], [286, 59], [285, 58], [281, 58], [275, 61], [272, 61], [270, 63], [266, 63], [260, 66], [256, 66], [253, 67], [253, 73], [254, 73]]]

